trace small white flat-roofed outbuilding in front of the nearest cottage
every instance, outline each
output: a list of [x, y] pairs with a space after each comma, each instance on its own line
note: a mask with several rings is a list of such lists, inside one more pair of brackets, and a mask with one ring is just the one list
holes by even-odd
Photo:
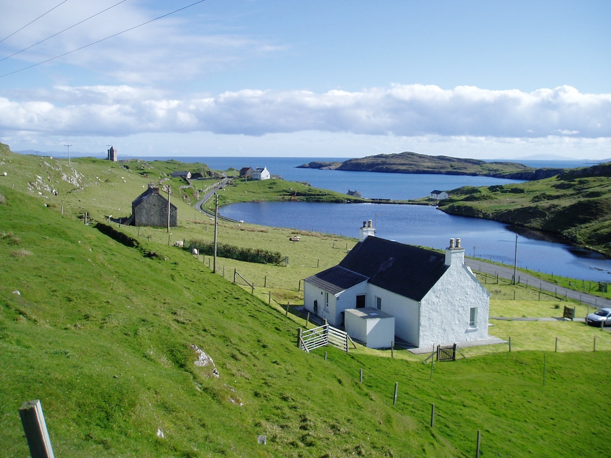
[[377, 308], [349, 308], [344, 312], [344, 325], [349, 336], [368, 348], [392, 346], [395, 317]]

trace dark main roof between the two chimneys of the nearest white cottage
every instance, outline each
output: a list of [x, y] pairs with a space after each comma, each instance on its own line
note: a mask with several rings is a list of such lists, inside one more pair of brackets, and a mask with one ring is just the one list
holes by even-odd
[[448, 268], [444, 253], [371, 236], [356, 244], [339, 266], [369, 277], [371, 285], [417, 301]]

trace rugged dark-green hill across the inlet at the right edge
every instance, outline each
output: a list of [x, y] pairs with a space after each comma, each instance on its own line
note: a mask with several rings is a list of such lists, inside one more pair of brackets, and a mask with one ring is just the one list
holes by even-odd
[[494, 219], [546, 231], [611, 256], [611, 163], [545, 180], [450, 191], [450, 214]]

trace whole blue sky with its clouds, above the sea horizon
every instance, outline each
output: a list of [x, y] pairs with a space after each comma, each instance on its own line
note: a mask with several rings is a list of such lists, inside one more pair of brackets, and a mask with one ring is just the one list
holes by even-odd
[[206, 0], [103, 40], [191, 3], [2, 1], [0, 141], [611, 158], [611, 2]]

